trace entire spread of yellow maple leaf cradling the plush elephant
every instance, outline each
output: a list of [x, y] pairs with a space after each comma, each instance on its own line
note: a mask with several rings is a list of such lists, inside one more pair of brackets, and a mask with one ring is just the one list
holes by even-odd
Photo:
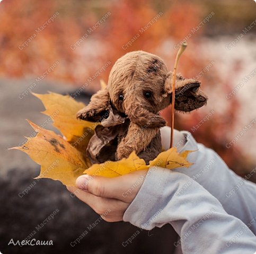
[[[29, 122], [38, 134], [34, 138], [28, 138], [23, 146], [13, 149], [27, 153], [32, 160], [41, 165], [41, 172], [37, 178], [51, 178], [60, 180], [64, 185], [75, 186], [76, 178], [83, 174], [117, 177], [133, 171], [149, 169], [152, 166], [173, 169], [191, 165], [186, 160], [191, 151], [178, 153], [175, 148], [161, 152], [154, 160], [149, 161], [149, 165], [146, 165], [135, 152], [132, 152], [127, 159], [92, 165], [86, 156], [86, 148], [95, 126], [99, 123], [76, 119], [76, 112], [83, 108], [84, 104], [76, 102], [69, 96], [55, 93], [34, 95], [45, 105], [46, 111], [43, 113], [52, 116], [58, 112], [52, 117], [54, 126], [67, 138], [65, 140], [53, 131]], [[91, 130], [90, 134], [86, 134], [88, 129]]]

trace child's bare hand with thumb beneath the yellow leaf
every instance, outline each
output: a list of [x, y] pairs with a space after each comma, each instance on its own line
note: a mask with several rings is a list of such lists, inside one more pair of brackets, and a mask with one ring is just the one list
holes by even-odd
[[91, 206], [105, 221], [122, 221], [123, 214], [137, 195], [146, 174], [147, 170], [114, 178], [83, 175], [76, 179], [77, 188], [67, 189]]

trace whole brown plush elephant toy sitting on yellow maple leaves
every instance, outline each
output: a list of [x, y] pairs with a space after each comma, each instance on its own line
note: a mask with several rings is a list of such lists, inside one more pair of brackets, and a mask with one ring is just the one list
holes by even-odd
[[[200, 82], [178, 75], [175, 110], [190, 112], [204, 106], [207, 97]], [[93, 163], [127, 158], [131, 152], [153, 160], [162, 150], [159, 112], [172, 103], [172, 72], [151, 53], [133, 51], [113, 65], [108, 85], [77, 112], [77, 118], [101, 122], [90, 139], [87, 154]]]

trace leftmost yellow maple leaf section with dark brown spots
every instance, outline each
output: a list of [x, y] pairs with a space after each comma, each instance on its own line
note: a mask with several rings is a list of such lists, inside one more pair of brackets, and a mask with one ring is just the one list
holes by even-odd
[[28, 141], [23, 146], [11, 149], [27, 153], [32, 160], [41, 165], [41, 172], [37, 178], [51, 178], [60, 180], [64, 185], [75, 186], [76, 178], [90, 167], [84, 161], [81, 152], [55, 132], [28, 122], [38, 132], [36, 137], [27, 138]]

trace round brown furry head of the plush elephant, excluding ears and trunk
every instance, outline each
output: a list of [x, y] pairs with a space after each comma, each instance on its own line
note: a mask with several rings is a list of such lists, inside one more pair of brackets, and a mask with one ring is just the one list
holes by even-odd
[[156, 114], [170, 104], [170, 97], [164, 96], [166, 74], [160, 57], [144, 51], [127, 53], [116, 61], [109, 75], [113, 106], [130, 118], [135, 118], [140, 108]]

